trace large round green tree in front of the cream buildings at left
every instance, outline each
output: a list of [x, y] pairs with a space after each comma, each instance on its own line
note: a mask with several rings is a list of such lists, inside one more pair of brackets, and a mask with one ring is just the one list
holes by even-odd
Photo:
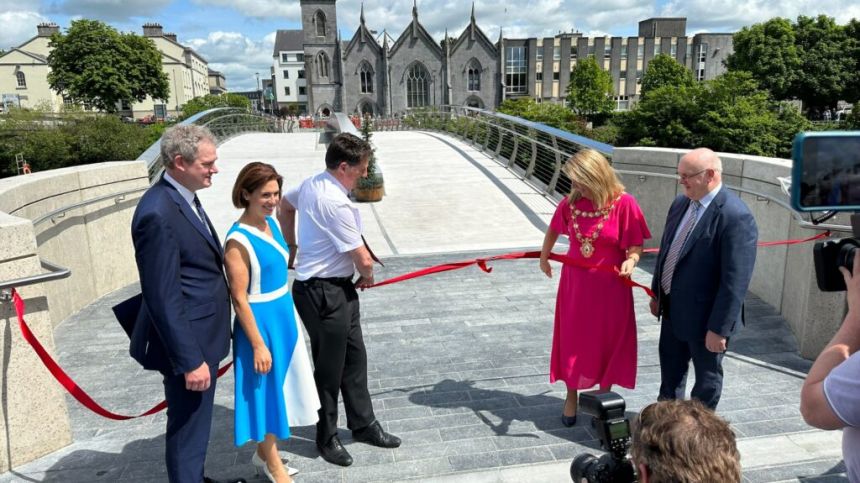
[[152, 40], [97, 20], [75, 20], [51, 36], [48, 84], [74, 102], [116, 112], [120, 101], [166, 99], [170, 88]]

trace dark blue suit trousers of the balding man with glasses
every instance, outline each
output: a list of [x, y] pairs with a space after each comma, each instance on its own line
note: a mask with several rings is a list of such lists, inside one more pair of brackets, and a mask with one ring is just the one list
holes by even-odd
[[[687, 386], [690, 361], [696, 383], [690, 396], [716, 410], [723, 390], [723, 353], [711, 352], [705, 340], [681, 340], [675, 336], [672, 320], [668, 317], [668, 303], [663, 311], [660, 327], [660, 394], [658, 399], [683, 399]], [[728, 341], [726, 341], [728, 343]]]

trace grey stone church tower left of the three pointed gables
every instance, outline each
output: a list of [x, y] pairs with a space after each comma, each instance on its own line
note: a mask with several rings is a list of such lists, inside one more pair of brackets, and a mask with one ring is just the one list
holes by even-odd
[[308, 110], [314, 114], [343, 111], [341, 46], [337, 0], [300, 0], [304, 33]]

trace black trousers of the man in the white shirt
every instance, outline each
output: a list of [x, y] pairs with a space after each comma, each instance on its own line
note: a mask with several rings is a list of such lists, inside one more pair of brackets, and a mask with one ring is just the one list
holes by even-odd
[[367, 390], [358, 293], [351, 277], [311, 278], [293, 284], [293, 300], [311, 339], [321, 406], [316, 440], [324, 445], [337, 434], [339, 392], [343, 393], [349, 429], [362, 429], [376, 420]]

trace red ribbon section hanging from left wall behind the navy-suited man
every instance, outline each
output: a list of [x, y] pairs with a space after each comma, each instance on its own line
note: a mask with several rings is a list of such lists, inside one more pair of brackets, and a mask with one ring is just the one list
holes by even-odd
[[[33, 331], [30, 330], [30, 327], [27, 325], [27, 322], [24, 321], [24, 300], [18, 295], [18, 292], [13, 288], [12, 289], [12, 302], [15, 304], [15, 313], [18, 315], [18, 327], [21, 328], [21, 334], [24, 335], [24, 340], [26, 340], [30, 346], [33, 347], [33, 350], [36, 351], [36, 354], [39, 356], [39, 359], [42, 360], [42, 364], [45, 364], [45, 367], [48, 369], [48, 372], [54, 376], [54, 379], [57, 380], [66, 391], [69, 391], [69, 394], [72, 395], [79, 403], [83, 404], [90, 411], [98, 414], [99, 416], [113, 419], [115, 421], [125, 421], [127, 419], [135, 419], [143, 416], [149, 416], [151, 414], [155, 414], [164, 408], [167, 407], [167, 401], [161, 401], [156, 404], [143, 414], [138, 414], [137, 416], [124, 416], [122, 414], [116, 414], [114, 412], [108, 411], [104, 407], [102, 407], [99, 403], [97, 403], [89, 394], [86, 393], [80, 386], [71, 378], [66, 371], [57, 364], [48, 351], [45, 350], [45, 347], [42, 346], [42, 343], [39, 342], [39, 339], [36, 338], [36, 335], [33, 334]], [[229, 364], [218, 369], [218, 377], [224, 375], [230, 366], [233, 365], [233, 362], [230, 361]]]

